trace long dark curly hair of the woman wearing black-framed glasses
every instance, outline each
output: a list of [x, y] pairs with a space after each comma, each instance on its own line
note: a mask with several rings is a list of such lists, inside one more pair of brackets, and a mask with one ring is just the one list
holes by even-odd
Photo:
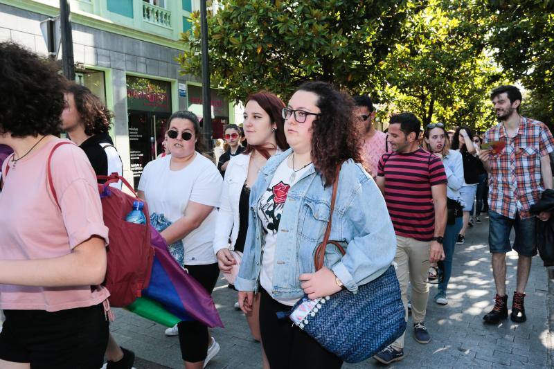
[[325, 178], [325, 186], [335, 179], [337, 165], [348, 159], [364, 165], [361, 147], [364, 127], [353, 118], [354, 100], [325, 82], [305, 82], [298, 91], [315, 93], [321, 114], [312, 125], [312, 161]]

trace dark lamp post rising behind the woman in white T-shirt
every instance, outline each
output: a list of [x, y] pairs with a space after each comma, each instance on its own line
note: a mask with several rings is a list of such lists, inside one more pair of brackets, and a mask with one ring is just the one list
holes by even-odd
[[206, 0], [200, 1], [200, 37], [202, 42], [202, 125], [208, 152], [212, 150], [212, 109], [210, 96], [210, 65], [208, 56], [208, 15]]

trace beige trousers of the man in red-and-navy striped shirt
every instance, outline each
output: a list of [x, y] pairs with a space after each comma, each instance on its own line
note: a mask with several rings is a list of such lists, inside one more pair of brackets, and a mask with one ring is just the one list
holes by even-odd
[[[411, 316], [413, 323], [425, 321], [427, 300], [429, 299], [429, 286], [427, 275], [429, 273], [429, 241], [418, 241], [409, 237], [396, 236], [396, 255], [394, 261], [397, 264], [396, 276], [402, 291], [402, 303], [408, 321], [408, 280], [411, 284]], [[409, 278], [409, 279], [408, 279]], [[404, 348], [404, 336], [393, 342], [395, 350]]]

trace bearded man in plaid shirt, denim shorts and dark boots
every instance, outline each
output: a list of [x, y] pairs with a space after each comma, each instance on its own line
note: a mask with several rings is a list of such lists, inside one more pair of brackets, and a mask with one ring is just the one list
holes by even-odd
[[[483, 319], [497, 324], [508, 318], [506, 253], [512, 250], [509, 237], [513, 227], [518, 261], [510, 318], [522, 323], [526, 321], [524, 297], [531, 258], [537, 255], [537, 220], [530, 215], [529, 207], [545, 189], [552, 188], [548, 154], [554, 151], [554, 138], [544, 123], [519, 115], [521, 92], [517, 87], [498, 87], [490, 98], [500, 123], [485, 132], [484, 142], [494, 143], [492, 148], [479, 152], [479, 159], [489, 172], [489, 247], [497, 294], [494, 308]], [[546, 221], [550, 213], [537, 217]]]

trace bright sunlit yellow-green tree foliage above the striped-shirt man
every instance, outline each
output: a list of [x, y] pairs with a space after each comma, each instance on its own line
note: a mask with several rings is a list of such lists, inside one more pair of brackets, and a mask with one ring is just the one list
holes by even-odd
[[500, 76], [485, 50], [472, 1], [429, 0], [406, 18], [404, 37], [382, 64], [388, 111], [413, 111], [424, 125], [483, 130], [494, 123], [488, 91]]

